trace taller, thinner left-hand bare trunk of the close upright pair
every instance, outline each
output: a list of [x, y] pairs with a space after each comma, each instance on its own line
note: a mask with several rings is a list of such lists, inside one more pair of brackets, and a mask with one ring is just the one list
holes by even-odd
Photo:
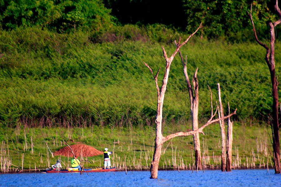
[[[219, 94], [219, 118], [224, 117], [224, 109], [221, 103], [220, 97], [220, 86], [218, 83], [218, 94]], [[221, 132], [221, 171], [225, 171], [225, 132], [224, 132], [224, 119], [219, 121], [220, 132]]]

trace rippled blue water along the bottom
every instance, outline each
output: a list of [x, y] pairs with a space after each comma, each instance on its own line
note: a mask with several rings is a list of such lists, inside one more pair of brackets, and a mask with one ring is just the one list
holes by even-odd
[[274, 170], [219, 170], [158, 171], [158, 179], [150, 179], [149, 171], [94, 172], [94, 173], [22, 173], [3, 174], [2, 187], [267, 187], [281, 186], [281, 175]]

